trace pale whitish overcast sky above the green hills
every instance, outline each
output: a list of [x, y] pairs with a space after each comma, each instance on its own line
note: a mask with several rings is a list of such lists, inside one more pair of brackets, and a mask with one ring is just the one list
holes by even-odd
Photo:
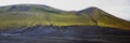
[[0, 0], [0, 6], [12, 4], [46, 4], [65, 11], [96, 6], [117, 17], [130, 20], [130, 0]]

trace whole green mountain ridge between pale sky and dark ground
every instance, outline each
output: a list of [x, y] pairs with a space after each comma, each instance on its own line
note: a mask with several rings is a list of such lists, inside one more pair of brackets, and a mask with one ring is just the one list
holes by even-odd
[[0, 29], [32, 26], [102, 26], [130, 30], [130, 22], [117, 18], [98, 8], [63, 11], [40, 4], [17, 4], [0, 8]]

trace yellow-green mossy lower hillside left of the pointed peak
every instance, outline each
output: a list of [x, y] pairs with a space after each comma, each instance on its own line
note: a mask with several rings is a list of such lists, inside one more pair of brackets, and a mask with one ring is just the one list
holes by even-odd
[[[43, 14], [43, 13], [32, 13], [32, 14], [20, 14], [20, 13], [4, 13], [0, 14], [0, 28], [18, 28], [22, 26], [31, 27], [36, 25], [43, 26], [72, 26], [72, 25], [93, 25], [93, 22], [87, 16], [78, 16], [73, 13], [68, 14]], [[83, 19], [82, 19], [83, 18]]]

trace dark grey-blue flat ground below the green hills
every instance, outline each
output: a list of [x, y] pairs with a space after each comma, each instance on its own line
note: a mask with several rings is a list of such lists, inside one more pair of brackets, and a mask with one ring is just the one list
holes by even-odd
[[35, 26], [1, 31], [0, 43], [129, 43], [130, 31], [98, 26]]

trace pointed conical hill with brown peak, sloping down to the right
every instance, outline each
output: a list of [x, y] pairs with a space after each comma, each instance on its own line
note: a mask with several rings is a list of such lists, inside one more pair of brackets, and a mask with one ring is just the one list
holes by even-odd
[[79, 11], [78, 14], [89, 16], [96, 26], [130, 29], [130, 22], [113, 16], [94, 6]]

